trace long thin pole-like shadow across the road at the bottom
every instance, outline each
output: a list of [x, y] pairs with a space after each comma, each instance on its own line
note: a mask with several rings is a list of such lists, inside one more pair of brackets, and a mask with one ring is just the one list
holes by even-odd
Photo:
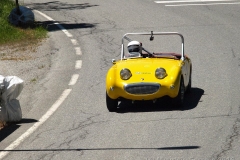
[[51, 151], [101, 151], [101, 150], [190, 150], [199, 149], [199, 146], [176, 146], [176, 147], [161, 147], [161, 148], [76, 148], [76, 149], [27, 149], [27, 150], [0, 150], [6, 152], [51, 152]]

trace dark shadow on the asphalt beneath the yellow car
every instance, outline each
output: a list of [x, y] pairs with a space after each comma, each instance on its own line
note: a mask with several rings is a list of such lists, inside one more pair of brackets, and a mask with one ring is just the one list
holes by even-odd
[[127, 112], [159, 112], [159, 111], [174, 111], [174, 110], [191, 110], [197, 107], [204, 90], [200, 88], [192, 88], [191, 93], [185, 95], [184, 108], [178, 108], [171, 103], [171, 98], [164, 97], [158, 99], [155, 103], [152, 101], [122, 101], [119, 104], [117, 113]]

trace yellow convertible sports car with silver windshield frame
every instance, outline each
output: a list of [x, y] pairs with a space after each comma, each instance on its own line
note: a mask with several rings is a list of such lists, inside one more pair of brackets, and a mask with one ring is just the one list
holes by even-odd
[[[181, 53], [150, 52], [142, 39], [139, 42], [129, 38], [136, 35], [147, 37], [150, 42], [156, 37], [180, 36]], [[116, 111], [118, 102], [124, 99], [156, 101], [164, 96], [183, 107], [184, 95], [191, 89], [192, 63], [184, 54], [184, 38], [180, 33], [127, 33], [122, 38], [121, 59], [113, 59], [112, 63], [106, 75], [106, 104], [110, 112]]]

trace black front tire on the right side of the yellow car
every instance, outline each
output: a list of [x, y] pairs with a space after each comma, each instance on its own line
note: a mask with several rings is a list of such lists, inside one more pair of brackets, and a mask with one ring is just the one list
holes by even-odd
[[180, 109], [184, 109], [184, 95], [185, 95], [185, 87], [183, 78], [181, 78], [179, 91], [177, 97], [174, 98], [174, 105]]

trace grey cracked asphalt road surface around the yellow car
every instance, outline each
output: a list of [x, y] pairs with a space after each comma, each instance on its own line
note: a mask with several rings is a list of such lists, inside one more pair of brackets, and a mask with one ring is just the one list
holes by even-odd
[[[42, 98], [35, 105], [43, 109], [29, 112], [28, 117], [37, 121], [64, 89], [72, 89], [71, 93], [5, 159], [239, 159], [240, 4], [28, 2], [62, 24], [79, 43], [82, 55], [75, 54], [75, 46], [63, 32], [51, 30], [59, 50], [48, 75], [51, 90], [38, 93]], [[184, 35], [185, 52], [193, 63], [187, 107], [181, 111], [160, 102], [123, 103], [122, 109], [110, 113], [105, 104], [105, 75], [111, 59], [120, 56], [123, 34], [147, 31]], [[79, 70], [74, 69], [77, 59], [82, 61]], [[79, 78], [69, 86], [72, 74]], [[16, 138], [21, 128], [33, 123], [21, 125], [12, 133]]]

